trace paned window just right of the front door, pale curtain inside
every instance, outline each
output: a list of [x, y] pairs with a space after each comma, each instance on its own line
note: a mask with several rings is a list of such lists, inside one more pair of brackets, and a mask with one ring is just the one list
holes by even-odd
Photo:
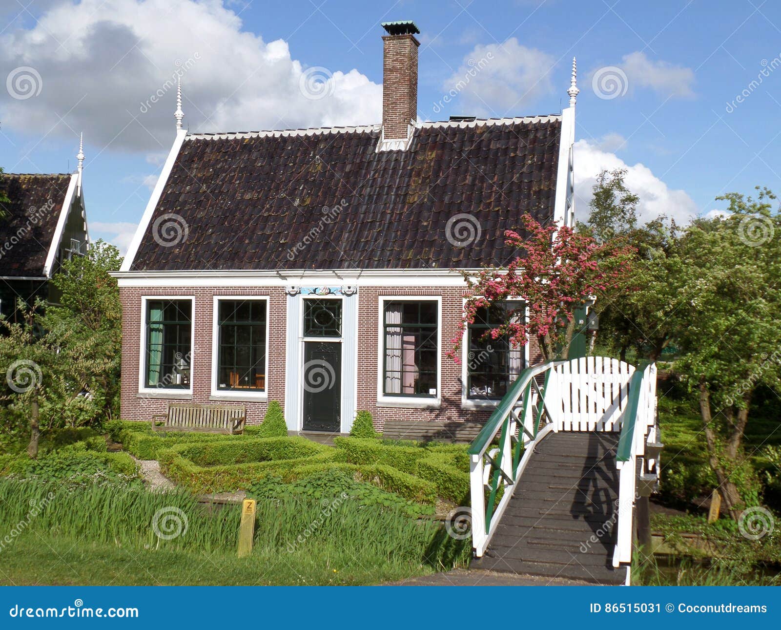
[[439, 355], [436, 300], [385, 302], [383, 393], [437, 396]]

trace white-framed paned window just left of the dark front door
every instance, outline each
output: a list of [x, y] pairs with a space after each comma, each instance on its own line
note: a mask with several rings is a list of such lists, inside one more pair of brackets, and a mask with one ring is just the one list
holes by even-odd
[[217, 388], [266, 391], [265, 299], [220, 299], [217, 307]]

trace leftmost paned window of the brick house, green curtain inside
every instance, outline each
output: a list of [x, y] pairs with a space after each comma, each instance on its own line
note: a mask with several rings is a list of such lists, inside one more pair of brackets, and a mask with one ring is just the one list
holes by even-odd
[[150, 299], [146, 312], [148, 388], [190, 388], [192, 300]]

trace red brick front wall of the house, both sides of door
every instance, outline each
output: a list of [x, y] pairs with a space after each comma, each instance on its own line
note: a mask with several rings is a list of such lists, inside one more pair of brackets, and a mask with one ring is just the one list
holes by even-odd
[[[164, 413], [169, 398], [152, 398], [138, 393], [139, 344], [141, 341], [141, 297], [169, 298], [194, 295], [195, 337], [192, 361], [193, 395], [196, 403], [208, 403], [212, 378], [212, 311], [215, 295], [269, 296], [269, 374], [266, 387], [269, 400], [284, 407], [285, 399], [285, 330], [287, 296], [284, 288], [120, 288], [122, 320], [122, 417], [125, 420], [149, 421], [153, 413]], [[442, 347], [440, 409], [410, 409], [377, 406], [378, 300], [381, 295], [441, 296]], [[461, 406], [462, 366], [445, 356], [457, 334], [464, 292], [461, 288], [377, 288], [358, 289], [358, 410], [369, 410], [378, 430], [390, 418], [405, 420], [476, 420], [484, 421], [490, 410], [463, 410]], [[530, 363], [541, 359], [536, 341], [530, 345]], [[222, 402], [222, 401], [220, 401]], [[230, 403], [226, 403], [230, 404]], [[234, 404], [241, 404], [237, 402]], [[246, 401], [247, 421], [258, 424], [266, 413], [267, 403]]]

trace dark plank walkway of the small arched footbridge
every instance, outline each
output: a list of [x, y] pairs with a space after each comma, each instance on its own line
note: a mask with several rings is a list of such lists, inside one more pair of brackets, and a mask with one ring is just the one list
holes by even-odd
[[599, 584], [624, 582], [612, 567], [619, 479], [615, 433], [550, 433], [537, 445], [473, 567]]

